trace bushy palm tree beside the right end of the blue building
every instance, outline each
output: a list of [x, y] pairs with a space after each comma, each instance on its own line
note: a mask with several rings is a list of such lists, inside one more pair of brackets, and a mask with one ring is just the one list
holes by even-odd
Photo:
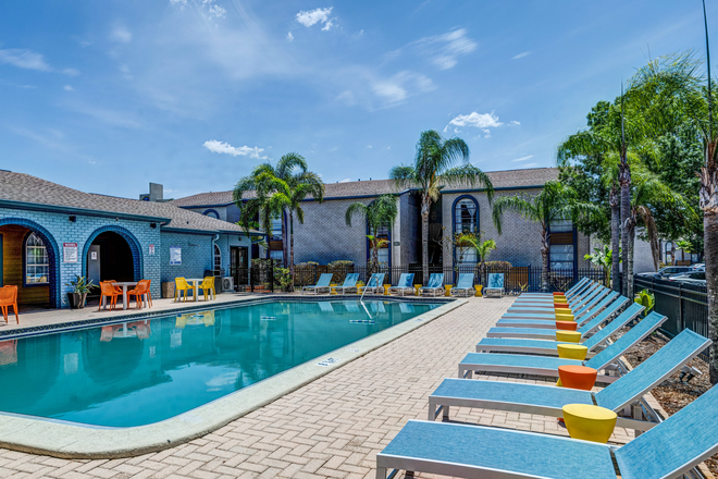
[[[317, 173], [308, 171], [307, 161], [301, 155], [290, 152], [284, 155], [273, 168], [270, 163], [260, 164], [251, 175], [242, 179], [234, 188], [233, 198], [242, 206], [242, 198], [248, 191], [256, 193], [256, 198], [249, 199], [243, 208], [245, 223], [250, 221], [257, 213], [260, 214], [262, 229], [271, 230], [271, 220], [282, 219], [282, 237], [289, 238], [288, 262], [289, 274], [294, 278], [294, 217], [296, 214], [299, 223], [305, 222], [305, 212], [301, 201], [311, 196], [321, 202], [324, 199], [324, 183]], [[284, 216], [289, 218], [289, 234], [286, 234]], [[269, 251], [268, 251], [269, 258]], [[286, 256], [285, 256], [286, 260]]]

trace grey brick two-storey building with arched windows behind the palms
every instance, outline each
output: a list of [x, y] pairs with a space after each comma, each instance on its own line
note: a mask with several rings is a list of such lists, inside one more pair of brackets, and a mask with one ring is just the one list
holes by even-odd
[[[550, 180], [558, 179], [555, 168], [540, 168], [487, 173], [496, 195], [535, 195]], [[380, 259], [393, 267], [421, 263], [421, 211], [420, 197], [414, 189], [400, 189], [389, 180], [370, 180], [325, 185], [324, 201], [319, 204], [308, 198], [302, 204], [305, 223], [295, 219], [295, 262], [350, 260], [364, 265], [370, 255], [366, 237], [367, 225], [356, 219], [351, 226], [345, 222], [345, 212], [355, 201], [370, 204], [382, 194], [396, 195], [398, 217], [393, 228], [383, 232], [391, 246], [382, 251]], [[212, 216], [228, 222], [239, 220], [239, 208], [232, 200], [232, 192], [202, 193], [171, 201], [201, 214]], [[281, 234], [281, 219], [276, 219], [270, 236], [270, 255], [286, 263], [286, 242]], [[445, 187], [430, 213], [430, 251], [432, 265], [450, 268], [457, 260], [453, 253], [440, 245], [440, 240], [458, 231], [481, 231], [483, 238], [493, 238], [498, 248], [492, 260], [505, 260], [515, 266], [541, 265], [540, 225], [523, 218], [507, 214], [504, 234], [494, 228], [491, 205], [481, 188], [469, 185]], [[287, 229], [288, 231], [288, 229]], [[570, 223], [555, 224], [552, 237], [552, 263], [554, 266], [586, 266], [583, 255], [590, 251], [589, 238]], [[255, 256], [263, 251], [255, 250]], [[472, 261], [475, 258], [465, 258]]]

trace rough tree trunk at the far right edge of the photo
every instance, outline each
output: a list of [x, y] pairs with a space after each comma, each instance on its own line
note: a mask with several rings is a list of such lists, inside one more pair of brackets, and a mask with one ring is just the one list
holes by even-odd
[[703, 209], [706, 286], [708, 288], [708, 337], [710, 383], [718, 383], [718, 164], [714, 161], [716, 144], [706, 148], [706, 164], [701, 169], [701, 209]]

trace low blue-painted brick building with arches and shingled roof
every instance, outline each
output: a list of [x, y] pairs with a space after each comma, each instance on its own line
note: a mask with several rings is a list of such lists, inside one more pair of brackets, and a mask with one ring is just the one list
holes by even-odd
[[0, 286], [17, 285], [21, 305], [65, 307], [75, 274], [95, 284], [151, 280], [160, 297], [161, 283], [175, 277], [247, 263], [250, 243], [236, 224], [161, 197], [89, 194], [0, 171]]

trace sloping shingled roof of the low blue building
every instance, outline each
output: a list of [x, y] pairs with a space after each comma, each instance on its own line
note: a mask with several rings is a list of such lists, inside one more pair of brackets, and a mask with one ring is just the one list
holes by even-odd
[[[238, 234], [245, 232], [237, 224], [177, 208], [170, 202], [84, 193], [29, 174], [10, 171], [0, 171], [0, 207], [136, 219], [158, 222], [163, 230]], [[250, 233], [261, 234], [255, 231]]]

